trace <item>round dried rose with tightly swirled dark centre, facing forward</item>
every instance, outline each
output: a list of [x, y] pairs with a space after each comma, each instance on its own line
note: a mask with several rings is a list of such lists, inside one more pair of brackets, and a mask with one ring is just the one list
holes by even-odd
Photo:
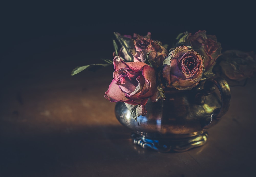
[[203, 70], [202, 56], [188, 46], [179, 46], [164, 60], [163, 77], [178, 90], [191, 90], [200, 82]]

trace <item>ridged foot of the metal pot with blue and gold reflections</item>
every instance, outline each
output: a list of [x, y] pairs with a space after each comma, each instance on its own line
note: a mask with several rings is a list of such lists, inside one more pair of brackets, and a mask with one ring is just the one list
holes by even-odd
[[202, 132], [199, 135], [183, 138], [183, 139], [154, 139], [132, 133], [134, 144], [140, 145], [142, 148], [153, 149], [158, 152], [184, 152], [189, 149], [204, 145], [208, 139], [208, 133]]

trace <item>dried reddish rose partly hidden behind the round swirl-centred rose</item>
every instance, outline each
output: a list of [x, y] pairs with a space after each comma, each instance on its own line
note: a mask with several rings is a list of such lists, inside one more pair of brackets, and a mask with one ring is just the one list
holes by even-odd
[[207, 35], [206, 31], [199, 30], [195, 34], [184, 33], [177, 45], [191, 46], [193, 50], [204, 56], [205, 72], [210, 71], [216, 64], [216, 59], [221, 55], [221, 44], [217, 42], [215, 35]]

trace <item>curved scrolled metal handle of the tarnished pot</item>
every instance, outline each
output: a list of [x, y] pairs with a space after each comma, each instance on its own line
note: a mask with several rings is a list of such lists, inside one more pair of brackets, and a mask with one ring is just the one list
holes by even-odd
[[220, 108], [215, 109], [208, 121], [203, 125], [204, 129], [210, 128], [215, 125], [219, 119], [225, 115], [229, 109], [230, 101], [231, 101], [231, 93], [228, 82], [222, 77], [212, 77], [205, 81], [204, 89], [202, 93], [206, 96], [214, 92], [216, 86], [219, 89], [221, 95], [221, 106]]

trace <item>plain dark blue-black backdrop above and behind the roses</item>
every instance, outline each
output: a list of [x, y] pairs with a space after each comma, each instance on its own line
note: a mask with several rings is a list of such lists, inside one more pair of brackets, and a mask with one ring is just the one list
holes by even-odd
[[216, 35], [222, 51], [255, 49], [254, 13], [248, 4], [12, 2], [1, 11], [4, 85], [24, 77], [68, 76], [76, 66], [112, 60], [113, 32], [151, 32], [153, 40], [172, 45], [181, 32], [206, 30]]

